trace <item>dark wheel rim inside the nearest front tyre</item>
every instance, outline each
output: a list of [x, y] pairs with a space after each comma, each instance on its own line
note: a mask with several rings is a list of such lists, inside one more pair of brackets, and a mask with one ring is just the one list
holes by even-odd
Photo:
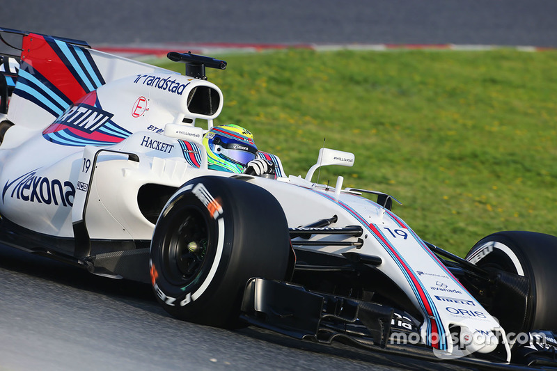
[[162, 248], [164, 275], [174, 285], [185, 288], [198, 281], [207, 261], [209, 232], [199, 210], [188, 209], [169, 226], [169, 236]]

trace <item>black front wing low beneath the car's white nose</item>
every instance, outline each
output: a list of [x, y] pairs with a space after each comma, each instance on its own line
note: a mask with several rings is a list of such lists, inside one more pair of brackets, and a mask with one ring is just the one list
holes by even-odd
[[[489, 357], [471, 354], [440, 357], [419, 341], [419, 322], [411, 315], [380, 303], [311, 292], [301, 285], [252, 278], [246, 285], [241, 318], [293, 338], [331, 344], [334, 340], [375, 352], [448, 362], [489, 370], [557, 370], [556, 334], [529, 334], [530, 341], [513, 348], [513, 364], [505, 352]], [[401, 336], [405, 334], [405, 336]], [[481, 358], [480, 358], [481, 356]]]

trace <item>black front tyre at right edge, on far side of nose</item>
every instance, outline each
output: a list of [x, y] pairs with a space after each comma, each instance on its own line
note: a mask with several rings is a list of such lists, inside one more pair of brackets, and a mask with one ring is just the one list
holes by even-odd
[[[466, 260], [487, 271], [513, 274], [507, 280], [505, 294], [494, 300], [492, 314], [501, 320], [503, 328], [507, 324], [507, 331], [517, 333], [557, 329], [557, 237], [536, 232], [497, 232], [473, 246]], [[514, 275], [520, 277], [512, 278]], [[523, 298], [517, 292], [527, 295]]]

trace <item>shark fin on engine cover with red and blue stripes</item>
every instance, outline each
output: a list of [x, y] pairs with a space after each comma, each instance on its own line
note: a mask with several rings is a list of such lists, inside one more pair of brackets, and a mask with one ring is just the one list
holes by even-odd
[[[31, 131], [44, 129], [72, 104], [110, 81], [162, 71], [91, 49], [82, 40], [0, 27], [2, 44], [19, 51], [19, 56], [8, 58], [19, 58], [20, 64], [16, 76], [4, 74], [6, 97], [1, 104], [5, 117]], [[15, 86], [8, 86], [8, 81]]]

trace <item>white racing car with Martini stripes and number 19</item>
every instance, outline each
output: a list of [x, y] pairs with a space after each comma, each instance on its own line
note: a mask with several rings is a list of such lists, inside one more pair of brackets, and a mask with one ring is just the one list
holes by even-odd
[[182, 75], [2, 33], [22, 45], [0, 69], [2, 244], [150, 283], [191, 322], [476, 367], [556, 364], [556, 237], [497, 232], [455, 256], [392, 196], [313, 182], [320, 166], [352, 166], [350, 152], [322, 148], [304, 177], [261, 151], [271, 177], [213, 170], [203, 139], [223, 94], [205, 69], [225, 61], [168, 53]]

